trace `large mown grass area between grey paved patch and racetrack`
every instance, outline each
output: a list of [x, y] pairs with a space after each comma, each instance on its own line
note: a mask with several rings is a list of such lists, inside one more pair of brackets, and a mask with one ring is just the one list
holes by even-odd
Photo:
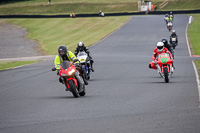
[[55, 19], [5, 19], [28, 30], [28, 38], [37, 40], [49, 55], [57, 54], [59, 45], [74, 52], [79, 41], [90, 46], [120, 28], [128, 16]]

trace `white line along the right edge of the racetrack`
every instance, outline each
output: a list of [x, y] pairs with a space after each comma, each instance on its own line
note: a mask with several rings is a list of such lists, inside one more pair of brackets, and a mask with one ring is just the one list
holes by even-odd
[[[192, 22], [192, 16], [189, 17], [189, 22], [186, 26], [186, 30], [185, 30], [185, 37], [186, 37], [186, 41], [187, 41], [187, 46], [188, 46], [188, 51], [189, 51], [189, 55], [190, 57], [192, 57], [192, 54], [191, 54], [191, 50], [190, 50], [190, 45], [189, 45], [189, 41], [188, 41], [188, 26], [189, 24], [191, 24]], [[194, 61], [192, 61], [192, 65], [193, 65], [193, 68], [194, 68], [194, 72], [195, 72], [195, 75], [196, 75], [196, 81], [197, 81], [197, 87], [198, 87], [198, 92], [199, 92], [199, 107], [200, 107], [200, 81], [199, 81], [199, 75], [198, 75], [198, 71], [197, 71], [197, 67], [194, 63]]]

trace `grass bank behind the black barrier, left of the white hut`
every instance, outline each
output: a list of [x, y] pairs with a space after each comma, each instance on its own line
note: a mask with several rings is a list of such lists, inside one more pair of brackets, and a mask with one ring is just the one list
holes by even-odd
[[131, 12], [137, 11], [137, 3], [69, 3], [54, 5], [23, 6], [0, 8], [0, 15], [51, 15], [51, 14], [76, 14], [103, 12]]

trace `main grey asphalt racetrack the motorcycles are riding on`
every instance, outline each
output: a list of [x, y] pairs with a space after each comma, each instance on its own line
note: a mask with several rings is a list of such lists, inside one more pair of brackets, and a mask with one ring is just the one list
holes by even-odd
[[150, 70], [157, 41], [169, 38], [164, 16], [134, 16], [90, 47], [95, 72], [85, 97], [74, 98], [51, 72], [53, 61], [0, 72], [1, 133], [199, 133], [200, 108], [185, 38], [179, 36], [169, 83]]

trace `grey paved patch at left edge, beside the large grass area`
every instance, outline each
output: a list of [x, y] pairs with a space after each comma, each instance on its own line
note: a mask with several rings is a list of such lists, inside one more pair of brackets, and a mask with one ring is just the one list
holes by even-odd
[[0, 20], [0, 59], [41, 55], [37, 42], [29, 40], [26, 35], [25, 28]]

